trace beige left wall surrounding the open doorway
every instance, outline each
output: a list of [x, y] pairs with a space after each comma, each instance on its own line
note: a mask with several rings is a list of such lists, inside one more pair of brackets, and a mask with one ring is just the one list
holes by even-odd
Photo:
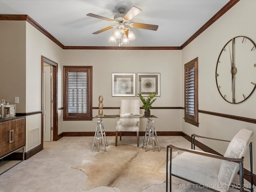
[[[62, 48], [26, 22], [26, 112], [42, 110], [41, 56], [58, 63], [57, 98], [58, 107], [60, 107], [62, 106]], [[62, 118], [59, 117], [58, 119], [58, 132], [61, 133], [63, 132]], [[26, 118], [26, 135], [28, 134], [28, 130], [37, 126], [40, 128], [41, 143], [41, 119], [38, 119], [38, 115], [32, 115]]]

